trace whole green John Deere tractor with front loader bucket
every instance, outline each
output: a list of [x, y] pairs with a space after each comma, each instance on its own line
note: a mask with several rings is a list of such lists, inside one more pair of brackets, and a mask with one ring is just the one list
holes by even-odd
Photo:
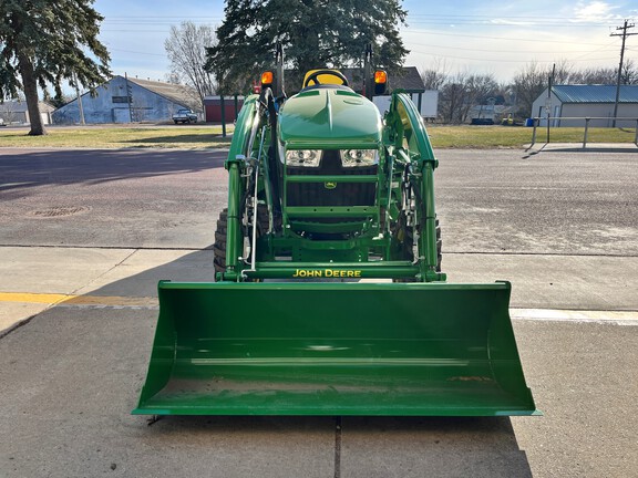
[[419, 111], [364, 67], [286, 97], [281, 51], [247, 97], [217, 221], [216, 282], [158, 285], [135, 414], [533, 415], [508, 282], [447, 283]]

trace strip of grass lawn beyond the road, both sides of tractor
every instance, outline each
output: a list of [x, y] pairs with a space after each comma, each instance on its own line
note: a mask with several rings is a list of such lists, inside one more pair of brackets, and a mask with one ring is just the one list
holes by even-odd
[[[230, 136], [222, 126], [84, 126], [49, 127], [45, 136], [29, 136], [27, 128], [0, 128], [0, 147], [86, 148], [225, 148]], [[233, 126], [228, 126], [228, 134]], [[532, 142], [532, 128], [506, 126], [428, 127], [434, 148], [523, 148]], [[552, 128], [552, 143], [583, 143], [584, 128]], [[536, 143], [545, 143], [546, 128], [537, 129]], [[634, 143], [634, 128], [589, 128], [588, 143]]]

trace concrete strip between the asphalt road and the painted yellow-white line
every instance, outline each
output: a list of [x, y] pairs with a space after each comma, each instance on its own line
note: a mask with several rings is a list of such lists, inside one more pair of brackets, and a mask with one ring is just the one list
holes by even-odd
[[[212, 281], [214, 276], [210, 250], [2, 247], [0, 251], [7, 258], [0, 263], [0, 333], [56, 304], [155, 308], [157, 281]], [[450, 282], [511, 281], [511, 306], [521, 319], [597, 316], [533, 311], [560, 309], [628, 311], [611, 316], [631, 321], [638, 311], [634, 293], [638, 258], [447, 253], [444, 261]], [[601, 320], [608, 315], [601, 314]]]

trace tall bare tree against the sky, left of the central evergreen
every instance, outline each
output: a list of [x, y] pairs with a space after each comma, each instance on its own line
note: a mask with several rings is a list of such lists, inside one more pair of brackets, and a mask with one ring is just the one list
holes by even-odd
[[171, 34], [164, 42], [164, 49], [171, 61], [171, 77], [184, 81], [195, 89], [202, 107], [204, 96], [215, 92], [213, 76], [206, 70], [206, 49], [217, 44], [212, 27], [193, 22], [182, 22], [179, 28], [171, 27]]

